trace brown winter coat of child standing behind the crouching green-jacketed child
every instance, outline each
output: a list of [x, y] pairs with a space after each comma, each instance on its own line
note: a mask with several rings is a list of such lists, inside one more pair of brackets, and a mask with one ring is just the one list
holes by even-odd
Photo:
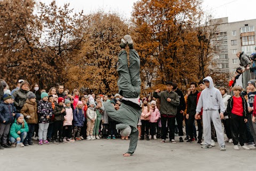
[[[33, 103], [27, 99], [26, 103], [23, 105], [20, 113], [24, 115], [28, 124], [37, 124], [38, 123], [38, 115], [37, 115], [37, 103]], [[27, 118], [30, 116], [30, 119]]]

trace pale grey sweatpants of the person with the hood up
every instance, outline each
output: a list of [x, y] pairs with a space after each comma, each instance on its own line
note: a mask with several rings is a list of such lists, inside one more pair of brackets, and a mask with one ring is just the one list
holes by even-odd
[[218, 110], [204, 110], [203, 111], [203, 129], [204, 129], [204, 143], [211, 144], [211, 121], [214, 125], [217, 140], [220, 146], [225, 145], [224, 134], [222, 131], [220, 113]]

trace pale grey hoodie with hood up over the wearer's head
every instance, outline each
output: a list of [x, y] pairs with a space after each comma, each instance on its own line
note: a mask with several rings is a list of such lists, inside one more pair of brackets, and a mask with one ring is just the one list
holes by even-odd
[[225, 104], [219, 89], [213, 85], [212, 77], [206, 77], [203, 80], [209, 80], [210, 86], [202, 91], [197, 103], [196, 113], [200, 113], [202, 108], [204, 110], [220, 109], [220, 112], [224, 113], [226, 111]]

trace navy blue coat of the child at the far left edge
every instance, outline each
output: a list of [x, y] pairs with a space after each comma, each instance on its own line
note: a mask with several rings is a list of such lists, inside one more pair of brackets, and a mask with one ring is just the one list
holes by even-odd
[[0, 122], [1, 124], [5, 120], [4, 124], [12, 124], [14, 117], [12, 116], [13, 107], [11, 104], [1, 102], [0, 103]]

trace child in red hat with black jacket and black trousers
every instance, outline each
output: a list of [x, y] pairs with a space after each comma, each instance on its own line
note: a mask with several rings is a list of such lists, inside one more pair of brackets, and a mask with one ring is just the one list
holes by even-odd
[[[64, 108], [64, 99], [63, 97], [58, 98], [58, 104], [55, 105], [53, 110], [54, 115], [54, 144], [59, 144], [59, 142], [63, 143], [62, 139], [62, 128], [63, 128], [63, 121], [64, 116], [67, 114]], [[58, 142], [59, 140], [59, 142]]]

